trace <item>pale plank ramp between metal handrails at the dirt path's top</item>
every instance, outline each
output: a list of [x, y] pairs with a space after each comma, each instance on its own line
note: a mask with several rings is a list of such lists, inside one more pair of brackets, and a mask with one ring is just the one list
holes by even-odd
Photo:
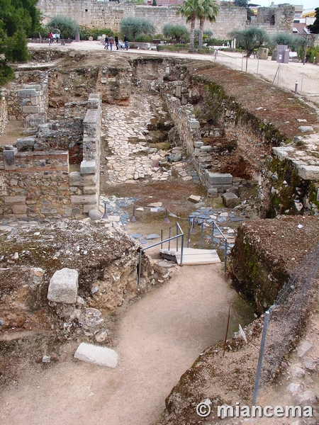
[[[160, 254], [166, 259], [172, 259], [177, 261], [177, 264], [181, 263], [181, 251], [174, 249], [159, 249]], [[185, 266], [196, 266], [196, 264], [213, 264], [220, 263], [220, 258], [216, 252], [216, 249], [194, 249], [184, 248], [183, 250], [183, 264]]]

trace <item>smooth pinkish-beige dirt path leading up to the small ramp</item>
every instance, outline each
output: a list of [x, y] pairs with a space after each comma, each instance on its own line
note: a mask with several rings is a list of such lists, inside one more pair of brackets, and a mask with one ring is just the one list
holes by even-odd
[[223, 339], [235, 297], [220, 264], [177, 268], [123, 312], [118, 368], [70, 359], [30, 374], [1, 395], [0, 424], [152, 424], [181, 374]]

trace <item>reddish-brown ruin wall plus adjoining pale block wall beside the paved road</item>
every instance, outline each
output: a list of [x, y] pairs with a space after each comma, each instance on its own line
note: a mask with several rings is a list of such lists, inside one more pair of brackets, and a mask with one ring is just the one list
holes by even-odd
[[[70, 109], [67, 105], [68, 118]], [[83, 105], [76, 110], [79, 114]], [[101, 96], [91, 94], [86, 102], [79, 171], [69, 173], [69, 152], [37, 151], [36, 140], [22, 140], [25, 146], [31, 146], [27, 152], [6, 147], [0, 154], [0, 215], [42, 219], [87, 217], [89, 210], [99, 207]]]

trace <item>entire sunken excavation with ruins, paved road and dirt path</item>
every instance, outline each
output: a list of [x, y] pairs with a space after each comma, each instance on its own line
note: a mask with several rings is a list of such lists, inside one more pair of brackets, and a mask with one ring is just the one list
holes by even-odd
[[[273, 305], [258, 403], [313, 416], [249, 420], [318, 424], [318, 108], [203, 60], [30, 52], [1, 90], [0, 424], [245, 423], [217, 406], [251, 405]], [[176, 222], [218, 262], [145, 249]]]

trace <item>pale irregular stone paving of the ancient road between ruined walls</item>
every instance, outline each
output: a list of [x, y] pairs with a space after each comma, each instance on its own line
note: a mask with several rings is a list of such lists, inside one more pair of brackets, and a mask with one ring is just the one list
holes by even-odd
[[[138, 113], [133, 106], [103, 106], [102, 131], [111, 155], [106, 156], [106, 166], [102, 165], [102, 174], [106, 176], [107, 183], [132, 183], [136, 180], [167, 181], [172, 176], [172, 170], [177, 170], [177, 176], [184, 181], [194, 177], [185, 170], [185, 163], [177, 162], [166, 167], [159, 166], [159, 161], [165, 162], [169, 154], [156, 147], [147, 147], [147, 135], [150, 131], [147, 126], [150, 120], [155, 119], [152, 108], [157, 108], [157, 116], [164, 118], [167, 113], [162, 111], [160, 103], [154, 104], [154, 98], [140, 103]], [[135, 116], [134, 116], [135, 115]], [[182, 150], [180, 147], [173, 152]]]

